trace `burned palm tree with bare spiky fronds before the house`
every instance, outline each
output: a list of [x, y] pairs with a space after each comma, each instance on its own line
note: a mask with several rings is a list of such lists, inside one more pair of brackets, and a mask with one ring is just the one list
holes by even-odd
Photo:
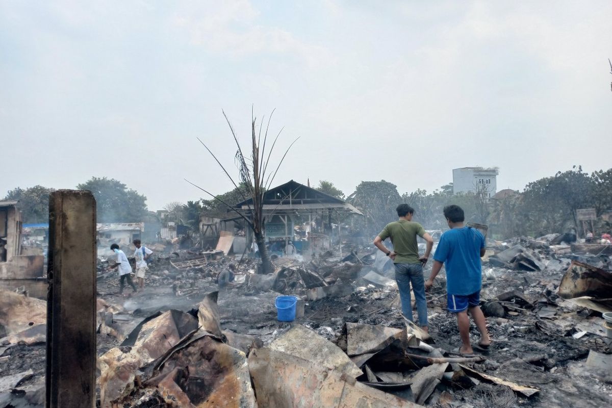
[[[274, 111], [272, 111], [272, 114], [274, 114]], [[274, 272], [274, 267], [272, 266], [270, 255], [266, 248], [266, 241], [264, 239], [264, 226], [266, 222], [263, 208], [264, 192], [266, 190], [269, 190], [269, 188], [271, 187], [272, 182], [274, 182], [274, 178], [276, 177], [276, 174], [278, 172], [278, 169], [285, 160], [289, 149], [291, 149], [291, 146], [293, 146], [293, 144], [296, 143], [297, 139], [299, 139], [296, 138], [293, 143], [291, 143], [289, 147], [285, 150], [285, 154], [283, 154], [283, 157], [278, 162], [276, 168], [274, 168], [274, 165], [269, 168], [268, 165], [270, 164], [272, 152], [274, 151], [274, 147], [276, 146], [278, 138], [280, 137], [280, 133], [283, 131], [283, 129], [281, 129], [280, 132], [278, 132], [278, 134], [274, 138], [274, 141], [272, 142], [272, 146], [269, 147], [269, 149], [266, 151], [268, 130], [270, 128], [272, 114], [270, 115], [267, 121], [266, 131], [263, 133], [263, 135], [262, 130], [264, 120], [261, 119], [259, 131], [257, 132], [256, 118], [253, 117], [253, 115], [251, 116], [251, 152], [250, 157], [245, 157], [242, 147], [240, 146], [240, 143], [238, 143], [236, 132], [234, 132], [234, 128], [230, 123], [230, 119], [228, 119], [225, 112], [223, 112], [225, 121], [230, 126], [234, 142], [236, 142], [237, 151], [234, 160], [239, 171], [240, 184], [245, 187], [245, 194], [242, 194], [243, 189], [238, 188], [238, 184], [230, 176], [230, 173], [225, 169], [225, 167], [221, 164], [217, 157], [212, 153], [211, 149], [209, 149], [208, 146], [206, 146], [206, 144], [198, 138], [198, 141], [200, 141], [200, 143], [203, 144], [204, 147], [206, 147], [206, 150], [208, 150], [208, 152], [212, 155], [215, 161], [217, 161], [217, 164], [222, 168], [223, 172], [225, 172], [225, 175], [228, 176], [234, 187], [236, 187], [238, 191], [241, 191], [245, 206], [243, 206], [242, 208], [237, 208], [235, 205], [228, 204], [218, 196], [215, 196], [212, 193], [209, 193], [209, 191], [205, 190], [204, 188], [193, 184], [189, 180], [186, 180], [193, 186], [200, 188], [200, 190], [204, 191], [204, 193], [212, 196], [212, 198], [222, 202], [222, 204], [225, 204], [225, 206], [230, 208], [231, 211], [237, 213], [237, 215], [239, 215], [239, 217], [241, 217], [245, 221], [247, 226], [252, 229], [253, 236], [255, 237], [255, 242], [257, 243], [257, 247], [259, 248], [259, 256], [261, 256], [263, 273]]]

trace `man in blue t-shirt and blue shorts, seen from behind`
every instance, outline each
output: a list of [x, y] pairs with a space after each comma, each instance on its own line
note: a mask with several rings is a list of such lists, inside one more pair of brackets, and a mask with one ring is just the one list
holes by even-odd
[[482, 267], [480, 258], [485, 254], [485, 237], [475, 228], [464, 225], [465, 215], [459, 206], [444, 207], [444, 217], [450, 231], [444, 232], [433, 255], [434, 263], [425, 288], [433, 285], [433, 280], [446, 264], [446, 292], [448, 309], [457, 314], [457, 325], [461, 336], [459, 353], [474, 353], [469, 341], [469, 317], [472, 315], [480, 331], [478, 348], [487, 349], [491, 344], [487, 332], [487, 320], [480, 310], [480, 287], [482, 286]]

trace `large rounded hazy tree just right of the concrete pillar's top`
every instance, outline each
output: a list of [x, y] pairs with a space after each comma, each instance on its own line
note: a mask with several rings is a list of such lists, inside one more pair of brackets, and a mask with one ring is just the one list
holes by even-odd
[[100, 223], [140, 222], [147, 213], [147, 198], [119, 180], [92, 177], [76, 188], [92, 192]]

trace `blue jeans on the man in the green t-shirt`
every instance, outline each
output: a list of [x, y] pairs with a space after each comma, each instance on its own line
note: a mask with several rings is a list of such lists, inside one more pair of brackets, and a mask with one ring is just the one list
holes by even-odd
[[412, 320], [412, 307], [410, 305], [410, 284], [414, 300], [417, 303], [419, 326], [427, 326], [427, 300], [425, 299], [425, 279], [423, 278], [423, 265], [421, 264], [395, 264], [395, 281], [400, 289], [401, 313], [406, 319]]

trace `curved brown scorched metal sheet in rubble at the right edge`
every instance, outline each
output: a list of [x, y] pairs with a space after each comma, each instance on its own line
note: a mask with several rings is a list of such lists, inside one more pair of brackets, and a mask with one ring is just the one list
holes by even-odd
[[572, 261], [559, 284], [559, 296], [564, 299], [581, 296], [607, 299], [611, 293], [612, 273], [578, 261]]

